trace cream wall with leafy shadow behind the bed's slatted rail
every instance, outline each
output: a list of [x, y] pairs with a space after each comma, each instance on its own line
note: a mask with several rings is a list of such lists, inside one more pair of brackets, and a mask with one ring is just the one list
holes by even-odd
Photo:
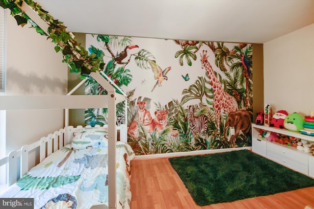
[[[46, 36], [29, 24], [18, 26], [8, 9], [5, 13], [6, 95], [66, 94], [68, 69], [62, 54]], [[63, 125], [63, 110], [6, 111], [6, 153]]]

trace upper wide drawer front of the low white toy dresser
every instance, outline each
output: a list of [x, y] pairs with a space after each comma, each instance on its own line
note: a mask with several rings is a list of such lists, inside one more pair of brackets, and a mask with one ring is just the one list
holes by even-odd
[[[267, 152], [276, 153], [297, 163], [308, 165], [308, 156], [298, 151], [290, 150], [288, 147], [282, 147], [274, 143], [267, 143]], [[268, 153], [267, 153], [268, 157]]]

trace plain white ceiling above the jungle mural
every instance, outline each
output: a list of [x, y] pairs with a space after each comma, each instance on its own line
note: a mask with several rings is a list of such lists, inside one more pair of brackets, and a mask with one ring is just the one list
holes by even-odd
[[68, 31], [265, 43], [314, 23], [314, 0], [35, 0]]

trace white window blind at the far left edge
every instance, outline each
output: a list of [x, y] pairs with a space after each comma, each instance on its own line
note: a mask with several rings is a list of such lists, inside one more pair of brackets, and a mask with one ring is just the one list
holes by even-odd
[[0, 91], [4, 90], [4, 9], [0, 7]]

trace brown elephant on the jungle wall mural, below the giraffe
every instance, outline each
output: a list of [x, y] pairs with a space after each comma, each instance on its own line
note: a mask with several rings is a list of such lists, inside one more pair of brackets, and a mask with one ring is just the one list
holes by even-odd
[[235, 134], [231, 136], [230, 142], [235, 144], [235, 139], [239, 136], [240, 130], [243, 134], [247, 134], [251, 129], [251, 116], [247, 110], [239, 110], [228, 114], [224, 129], [224, 137], [226, 137], [227, 128], [234, 127]]

